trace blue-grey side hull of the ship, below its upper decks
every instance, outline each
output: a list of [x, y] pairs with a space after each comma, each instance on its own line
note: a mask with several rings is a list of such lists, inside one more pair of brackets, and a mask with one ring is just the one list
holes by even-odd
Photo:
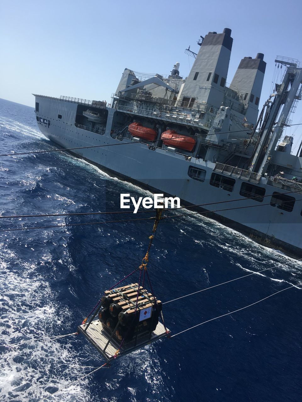
[[[36, 111], [38, 126], [43, 135], [62, 148], [109, 145], [102, 148], [73, 150], [72, 154], [83, 158], [102, 170], [136, 183], [144, 189], [180, 197], [183, 205], [200, 205], [198, 211], [206, 216], [238, 230], [257, 242], [277, 248], [296, 258], [302, 257], [301, 207], [302, 195], [292, 188], [270, 182], [262, 177], [259, 186], [265, 189], [262, 202], [245, 199], [240, 195], [242, 180], [236, 177], [232, 191], [210, 184], [215, 163], [200, 158], [152, 148], [147, 143], [122, 141], [110, 135], [114, 129], [114, 108], [107, 108], [108, 119], [104, 133], [92, 132], [75, 125], [77, 102], [36, 95], [39, 110]], [[58, 113], [62, 118], [58, 118]], [[111, 146], [119, 144], [116, 146]], [[205, 171], [204, 180], [188, 175], [189, 168]], [[270, 204], [273, 192], [294, 191], [296, 199], [292, 211], [281, 210]], [[240, 200], [241, 199], [241, 200]], [[243, 199], [243, 200], [242, 200]], [[238, 200], [228, 203], [225, 201]], [[219, 204], [220, 203], [220, 204]], [[204, 205], [208, 204], [208, 205]], [[244, 207], [244, 208], [243, 208]], [[246, 207], [246, 208], [245, 208]]]

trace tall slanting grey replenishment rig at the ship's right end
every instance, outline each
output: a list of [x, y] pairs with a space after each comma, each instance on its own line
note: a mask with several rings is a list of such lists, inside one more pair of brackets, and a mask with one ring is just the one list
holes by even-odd
[[286, 72], [280, 85], [276, 85], [277, 93], [272, 95], [273, 102], [269, 108], [267, 118], [263, 122], [259, 133], [258, 144], [252, 157], [251, 170], [264, 174], [267, 170], [271, 153], [275, 150], [284, 127], [288, 125], [288, 116], [293, 111], [295, 101], [301, 99], [302, 68], [298, 67], [296, 60], [280, 57], [275, 60], [286, 66]]

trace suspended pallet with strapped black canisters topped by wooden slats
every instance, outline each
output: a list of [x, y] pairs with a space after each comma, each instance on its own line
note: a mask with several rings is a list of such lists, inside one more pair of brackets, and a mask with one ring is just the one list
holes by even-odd
[[170, 333], [159, 322], [162, 303], [147, 289], [131, 283], [106, 290], [101, 298], [98, 320], [78, 327], [108, 360], [125, 355]]

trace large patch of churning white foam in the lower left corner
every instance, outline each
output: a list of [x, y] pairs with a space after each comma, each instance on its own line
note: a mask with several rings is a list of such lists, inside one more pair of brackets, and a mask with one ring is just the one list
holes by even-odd
[[[56, 305], [50, 285], [37, 273], [37, 266], [17, 258], [4, 244], [0, 244], [0, 286], [0, 343], [26, 340], [19, 347], [1, 347], [0, 401], [36, 401], [87, 373], [85, 368], [74, 367], [81, 366], [76, 338], [65, 338], [68, 342], [37, 340], [58, 335], [58, 315], [66, 317], [69, 311]], [[60, 398], [87, 402], [87, 381], [71, 386], [59, 394]]]

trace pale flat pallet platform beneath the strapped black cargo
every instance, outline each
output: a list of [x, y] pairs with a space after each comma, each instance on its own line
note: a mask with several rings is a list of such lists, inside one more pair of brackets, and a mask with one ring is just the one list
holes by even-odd
[[[118, 348], [120, 347], [120, 342], [115, 338], [112, 338], [104, 351], [105, 345], [107, 344], [111, 333], [108, 331], [106, 326], [104, 326], [99, 320], [95, 320], [91, 322], [87, 331], [84, 332], [86, 325], [80, 325], [78, 327], [78, 332], [81, 332], [89, 342], [105, 357], [107, 360], [114, 359], [114, 355]], [[151, 336], [149, 332], [141, 333], [137, 336], [137, 340], [131, 340], [128, 343], [124, 343], [120, 348], [120, 353], [118, 356], [127, 355], [137, 349], [142, 348], [145, 345], [149, 345], [149, 343], [154, 342], [155, 340], [161, 338], [166, 334], [165, 328], [163, 324], [160, 322], [157, 324], [155, 330], [151, 332]]]

